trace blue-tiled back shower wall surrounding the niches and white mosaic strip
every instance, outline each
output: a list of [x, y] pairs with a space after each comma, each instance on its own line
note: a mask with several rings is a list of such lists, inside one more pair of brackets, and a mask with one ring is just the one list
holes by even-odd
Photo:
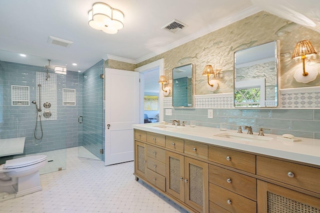
[[[82, 112], [82, 76], [81, 74], [78, 76], [75, 72], [67, 72], [67, 75], [51, 73], [56, 75], [57, 119], [43, 119], [43, 137], [41, 140], [34, 139], [36, 109], [31, 101], [36, 100], [38, 90], [36, 72], [45, 71], [38, 66], [0, 61], [0, 138], [26, 137], [24, 154], [64, 149], [78, 146], [78, 141], [81, 143], [78, 135], [81, 136], [82, 126], [77, 123], [77, 115]], [[29, 86], [28, 106], [11, 106], [11, 85]], [[62, 105], [62, 88], [76, 90], [77, 106]], [[44, 101], [45, 94], [41, 95]], [[43, 112], [43, 106], [41, 108]], [[37, 125], [36, 135], [39, 138], [41, 133], [39, 121]]]

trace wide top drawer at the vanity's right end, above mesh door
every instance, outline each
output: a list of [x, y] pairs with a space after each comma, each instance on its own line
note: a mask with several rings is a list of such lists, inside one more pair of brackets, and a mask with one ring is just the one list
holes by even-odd
[[318, 168], [256, 156], [256, 174], [320, 194]]

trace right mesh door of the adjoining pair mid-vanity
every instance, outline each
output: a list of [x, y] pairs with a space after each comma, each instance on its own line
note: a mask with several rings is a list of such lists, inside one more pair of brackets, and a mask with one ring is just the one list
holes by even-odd
[[209, 211], [208, 164], [184, 157], [184, 203], [202, 213]]

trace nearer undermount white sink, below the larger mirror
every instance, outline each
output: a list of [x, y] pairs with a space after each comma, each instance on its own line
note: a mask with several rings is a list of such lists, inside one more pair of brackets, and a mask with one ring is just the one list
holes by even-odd
[[271, 137], [267, 136], [259, 136], [259, 135], [248, 135], [248, 134], [241, 134], [241, 133], [234, 133], [234, 132], [223, 132], [219, 134], [215, 134], [214, 136], [222, 137], [222, 138], [230, 138], [239, 141], [246, 141], [246, 142], [266, 142], [272, 140]]

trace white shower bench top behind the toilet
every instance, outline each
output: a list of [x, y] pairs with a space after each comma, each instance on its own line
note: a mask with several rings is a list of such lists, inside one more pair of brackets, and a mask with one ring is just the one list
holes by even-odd
[[23, 153], [25, 137], [0, 139], [0, 157]]

